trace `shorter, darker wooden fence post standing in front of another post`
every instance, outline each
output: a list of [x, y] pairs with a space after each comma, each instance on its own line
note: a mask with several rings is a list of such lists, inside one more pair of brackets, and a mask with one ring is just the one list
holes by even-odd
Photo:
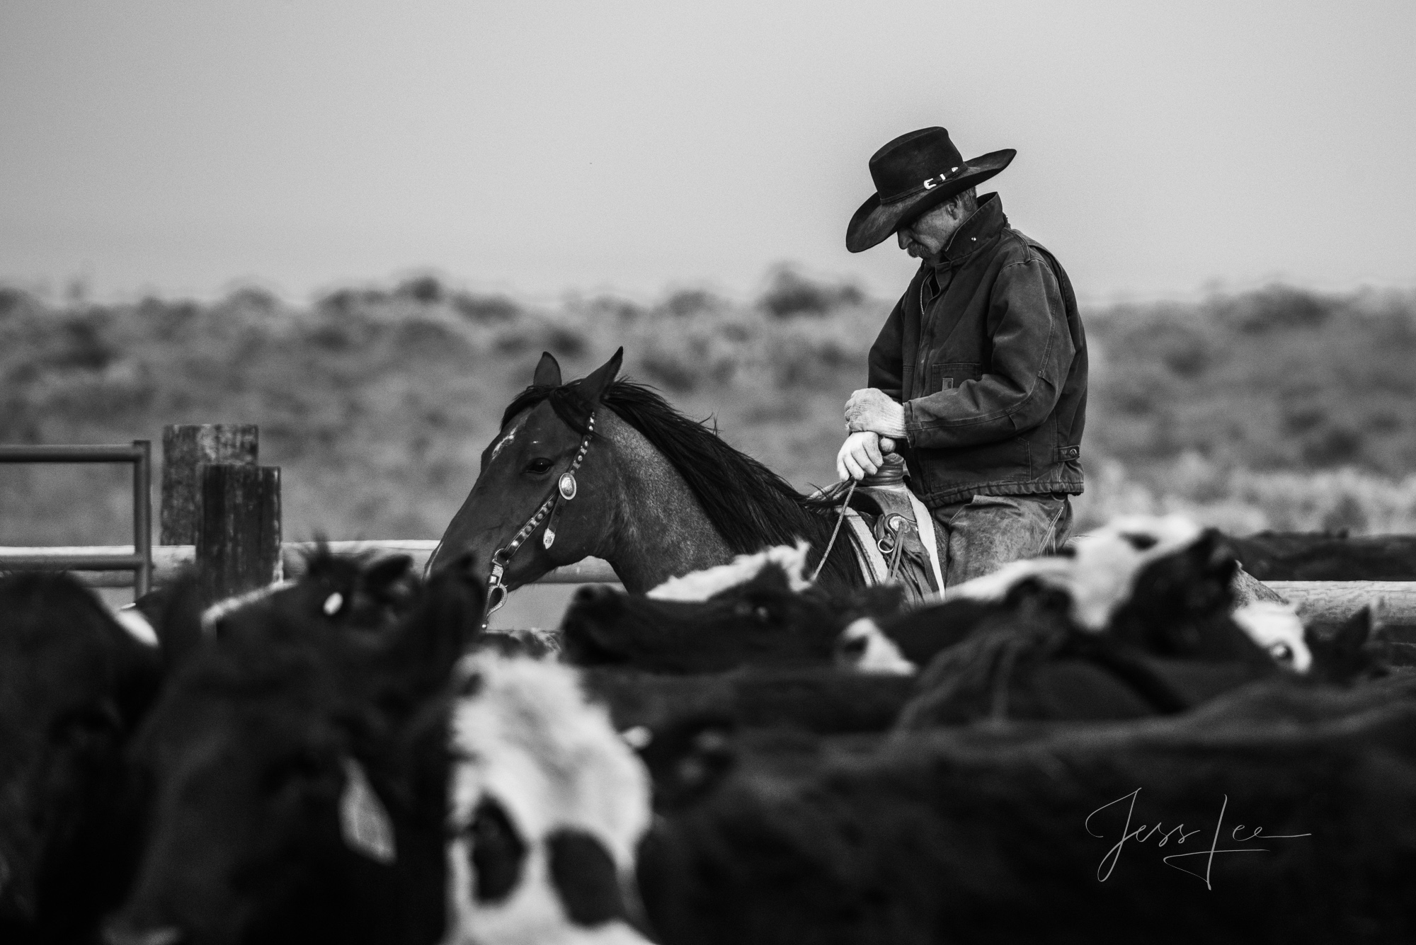
[[211, 603], [280, 579], [280, 467], [202, 463], [197, 570]]

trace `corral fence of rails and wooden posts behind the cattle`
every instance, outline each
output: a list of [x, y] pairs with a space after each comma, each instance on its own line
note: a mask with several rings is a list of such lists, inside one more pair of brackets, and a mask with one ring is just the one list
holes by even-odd
[[[0, 572], [72, 570], [91, 587], [132, 587], [144, 594], [197, 566], [210, 600], [296, 574], [313, 543], [283, 542], [280, 468], [259, 465], [255, 424], [181, 424], [163, 429], [160, 540], [152, 545], [152, 450], [132, 446], [0, 446], [0, 463], [130, 463], [133, 545], [0, 547]], [[334, 552], [404, 553], [416, 567], [435, 540], [327, 542]], [[539, 584], [616, 583], [600, 559], [559, 567]], [[1372, 607], [1378, 622], [1416, 625], [1416, 581], [1267, 581], [1304, 617], [1340, 620]]]

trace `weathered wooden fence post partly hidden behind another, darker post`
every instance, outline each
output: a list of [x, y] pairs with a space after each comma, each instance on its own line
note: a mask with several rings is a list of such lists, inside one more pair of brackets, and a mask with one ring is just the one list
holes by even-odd
[[163, 498], [159, 545], [195, 545], [200, 516], [197, 465], [255, 465], [261, 430], [253, 423], [163, 427]]

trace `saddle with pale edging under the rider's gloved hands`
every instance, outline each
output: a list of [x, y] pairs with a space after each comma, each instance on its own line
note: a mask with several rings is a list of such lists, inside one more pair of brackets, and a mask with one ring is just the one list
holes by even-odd
[[943, 562], [935, 518], [905, 485], [905, 460], [888, 454], [885, 464], [860, 481], [845, 521], [864, 550], [858, 564], [869, 584], [898, 584], [906, 604], [939, 600]]

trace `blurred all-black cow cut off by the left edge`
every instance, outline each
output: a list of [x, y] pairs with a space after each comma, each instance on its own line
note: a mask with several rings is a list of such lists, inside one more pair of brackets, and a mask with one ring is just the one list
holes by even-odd
[[85, 941], [116, 905], [122, 754], [160, 671], [68, 574], [0, 577], [0, 941]]

